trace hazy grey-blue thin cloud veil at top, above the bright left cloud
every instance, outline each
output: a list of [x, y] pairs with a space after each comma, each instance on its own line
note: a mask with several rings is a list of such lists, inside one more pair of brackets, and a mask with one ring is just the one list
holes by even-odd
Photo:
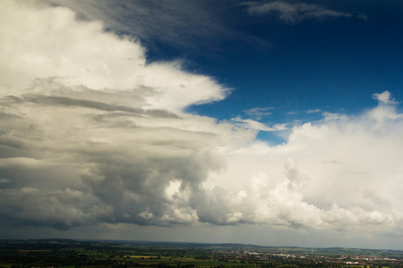
[[[190, 1], [47, 1], [66, 5], [87, 20], [100, 20], [108, 29], [132, 34], [154, 46], [159, 41], [193, 50], [193, 41], [208, 45], [208, 40], [231, 32], [210, 10], [209, 4]], [[209, 21], [209, 23], [205, 23]]]

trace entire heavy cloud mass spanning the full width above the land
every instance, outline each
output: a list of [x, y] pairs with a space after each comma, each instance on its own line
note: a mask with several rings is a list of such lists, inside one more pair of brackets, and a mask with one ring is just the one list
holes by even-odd
[[[360, 115], [290, 128], [217, 121], [184, 108], [228, 88], [177, 62], [147, 64], [140, 43], [99, 21], [12, 1], [0, 18], [2, 224], [403, 234], [403, 115], [390, 92]], [[269, 146], [259, 130], [287, 142]]]

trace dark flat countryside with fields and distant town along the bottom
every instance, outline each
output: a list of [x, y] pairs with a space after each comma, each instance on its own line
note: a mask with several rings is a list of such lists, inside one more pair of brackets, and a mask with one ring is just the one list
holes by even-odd
[[403, 267], [403, 251], [149, 241], [0, 240], [0, 268]]

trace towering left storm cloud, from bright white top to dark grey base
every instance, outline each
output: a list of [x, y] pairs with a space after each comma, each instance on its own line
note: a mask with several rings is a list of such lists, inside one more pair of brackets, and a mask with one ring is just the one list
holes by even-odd
[[[181, 111], [227, 88], [177, 62], [147, 64], [136, 40], [67, 8], [1, 5], [4, 222], [197, 220], [185, 193], [224, 165], [215, 147], [254, 133]], [[167, 195], [173, 181], [180, 189]]]

